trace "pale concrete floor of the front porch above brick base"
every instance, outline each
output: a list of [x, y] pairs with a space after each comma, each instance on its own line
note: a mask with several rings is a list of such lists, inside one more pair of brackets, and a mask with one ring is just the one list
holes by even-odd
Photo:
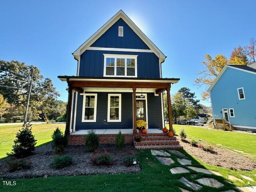
[[[132, 134], [132, 129], [94, 129], [96, 134], [118, 134], [121, 131], [124, 134]], [[72, 132], [71, 135], [84, 135], [88, 130], [78, 130]], [[160, 129], [147, 129], [147, 133], [162, 133]]]

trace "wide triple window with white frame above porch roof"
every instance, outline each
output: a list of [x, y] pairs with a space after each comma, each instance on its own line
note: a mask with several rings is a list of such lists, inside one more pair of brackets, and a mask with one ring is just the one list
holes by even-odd
[[137, 57], [104, 54], [104, 77], [137, 77]]

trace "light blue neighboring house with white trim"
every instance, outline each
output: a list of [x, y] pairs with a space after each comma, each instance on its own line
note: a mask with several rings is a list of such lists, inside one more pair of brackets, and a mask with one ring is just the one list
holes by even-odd
[[226, 65], [210, 88], [212, 113], [237, 130], [256, 131], [256, 62]]

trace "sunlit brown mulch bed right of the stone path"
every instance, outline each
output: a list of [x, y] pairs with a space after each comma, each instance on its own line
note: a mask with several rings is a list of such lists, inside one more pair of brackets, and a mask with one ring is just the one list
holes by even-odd
[[233, 170], [252, 171], [256, 169], [256, 162], [254, 162], [254, 160], [227, 149], [221, 149], [213, 146], [214, 153], [211, 153], [202, 150], [202, 148], [190, 146], [188, 141], [183, 142], [180, 140], [180, 145], [183, 146], [186, 152], [210, 165]]

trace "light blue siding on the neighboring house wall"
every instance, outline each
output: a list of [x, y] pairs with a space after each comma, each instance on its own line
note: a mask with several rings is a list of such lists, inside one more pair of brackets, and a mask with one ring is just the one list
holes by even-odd
[[[237, 88], [241, 87], [244, 100], [238, 98]], [[256, 74], [227, 68], [210, 93], [214, 118], [223, 118], [222, 109], [227, 108], [233, 126], [256, 127]], [[230, 108], [235, 117], [230, 117]]]

